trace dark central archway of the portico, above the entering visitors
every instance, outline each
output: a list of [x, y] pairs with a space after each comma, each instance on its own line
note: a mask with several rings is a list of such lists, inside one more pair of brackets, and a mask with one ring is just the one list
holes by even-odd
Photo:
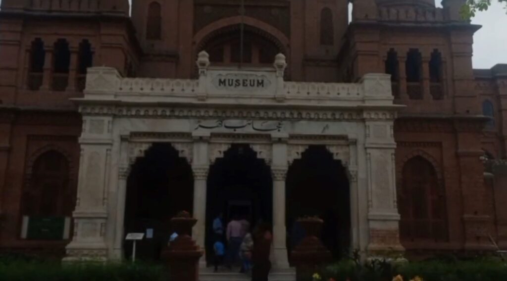
[[[224, 215], [224, 227], [235, 215], [247, 219], [252, 227], [260, 220], [272, 221], [273, 181], [271, 169], [246, 144], [233, 144], [210, 167], [206, 199], [206, 253], [213, 253], [211, 222]], [[210, 261], [211, 255], [206, 259]]]

